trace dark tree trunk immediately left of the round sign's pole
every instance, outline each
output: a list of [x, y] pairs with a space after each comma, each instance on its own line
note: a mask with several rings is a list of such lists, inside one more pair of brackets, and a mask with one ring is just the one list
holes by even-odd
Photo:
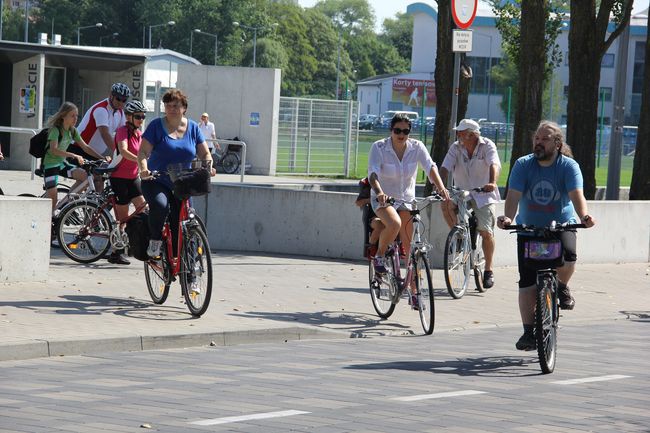
[[[449, 146], [449, 124], [451, 123], [451, 100], [453, 92], [454, 53], [451, 51], [451, 2], [438, 2], [438, 43], [436, 46], [436, 123], [431, 143], [431, 158], [440, 166]], [[427, 179], [424, 195], [433, 191]]]

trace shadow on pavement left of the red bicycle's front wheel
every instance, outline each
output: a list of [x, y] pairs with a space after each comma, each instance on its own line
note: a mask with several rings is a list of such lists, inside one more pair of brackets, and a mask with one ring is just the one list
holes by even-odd
[[[189, 312], [180, 307], [161, 307], [137, 299], [109, 298], [88, 295], [64, 295], [61, 300], [0, 301], [0, 307], [15, 307], [41, 314], [101, 315], [116, 314], [150, 320], [188, 320]], [[170, 313], [184, 312], [183, 316], [170, 317]]]

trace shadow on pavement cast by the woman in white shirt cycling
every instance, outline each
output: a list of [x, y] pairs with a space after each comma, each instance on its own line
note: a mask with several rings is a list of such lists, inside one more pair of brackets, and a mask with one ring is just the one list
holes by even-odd
[[250, 311], [230, 313], [231, 316], [277, 320], [279, 322], [298, 322], [310, 326], [318, 326], [337, 331], [349, 331], [358, 337], [395, 335], [396, 332], [412, 335], [409, 326], [381, 320], [376, 316], [352, 311], [317, 311], [313, 313], [280, 313]]

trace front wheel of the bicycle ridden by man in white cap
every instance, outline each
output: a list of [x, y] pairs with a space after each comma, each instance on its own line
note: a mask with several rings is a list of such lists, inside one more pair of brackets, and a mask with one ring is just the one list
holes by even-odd
[[461, 227], [453, 227], [445, 242], [445, 284], [454, 299], [462, 298], [469, 285], [470, 260], [465, 251], [468, 246], [466, 233]]

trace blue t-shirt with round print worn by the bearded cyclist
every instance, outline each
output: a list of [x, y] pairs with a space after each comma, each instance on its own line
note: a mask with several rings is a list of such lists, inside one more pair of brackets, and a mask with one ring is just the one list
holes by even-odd
[[569, 192], [582, 189], [582, 173], [573, 159], [558, 155], [551, 166], [543, 167], [533, 154], [522, 156], [512, 168], [508, 187], [522, 193], [517, 224], [577, 223]]

